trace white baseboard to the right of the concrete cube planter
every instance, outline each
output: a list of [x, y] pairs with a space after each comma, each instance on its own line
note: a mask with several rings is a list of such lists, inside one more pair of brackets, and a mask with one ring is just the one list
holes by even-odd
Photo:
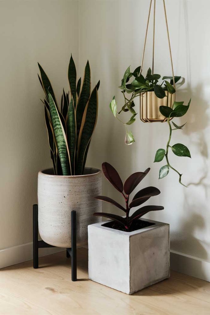
[[210, 282], [210, 262], [171, 250], [171, 269]]

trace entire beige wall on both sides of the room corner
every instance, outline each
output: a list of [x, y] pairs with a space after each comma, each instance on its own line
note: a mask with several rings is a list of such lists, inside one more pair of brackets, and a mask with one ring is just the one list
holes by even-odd
[[[156, 3], [155, 72], [170, 75], [162, 1]], [[124, 127], [109, 109], [113, 95], [121, 105], [117, 86], [127, 66], [134, 69], [140, 64], [148, 5], [148, 0], [0, 1], [0, 249], [31, 242], [37, 172], [51, 165], [39, 101], [43, 92], [37, 79], [37, 61], [60, 97], [62, 87], [68, 88], [67, 67], [72, 52], [80, 72], [89, 59], [92, 84], [101, 81], [99, 119], [88, 164], [100, 167], [103, 161], [113, 163], [123, 179], [150, 166], [142, 186], [160, 188], [162, 194], [154, 202], [164, 205], [165, 210], [149, 217], [170, 223], [173, 251], [210, 262], [209, 1], [166, 0], [174, 70], [186, 80], [177, 99], [187, 102], [192, 97], [189, 113], [177, 119], [177, 123], [187, 120], [187, 125], [183, 131], [174, 132], [172, 139], [173, 143], [187, 145], [192, 159], [170, 158], [184, 173], [183, 181], [189, 188], [180, 186], [173, 172], [158, 180], [162, 164], [153, 160], [156, 150], [167, 141], [166, 124], [144, 124], [137, 119], [131, 126], [136, 143], [126, 146]], [[144, 72], [149, 66], [151, 27]], [[136, 105], [138, 108], [138, 101]], [[104, 194], [118, 198], [107, 182]], [[104, 210], [114, 209], [107, 206]]]

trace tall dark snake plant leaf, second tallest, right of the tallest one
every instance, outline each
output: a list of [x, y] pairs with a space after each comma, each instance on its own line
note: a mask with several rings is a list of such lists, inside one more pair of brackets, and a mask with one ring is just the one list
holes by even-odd
[[[87, 62], [85, 66], [82, 90], [78, 97], [77, 106], [76, 106], [77, 141], [79, 138], [82, 117], [83, 117], [84, 110], [87, 105], [89, 97], [90, 97], [90, 66], [89, 66], [89, 62]], [[78, 150], [78, 142], [77, 142], [77, 150]]]

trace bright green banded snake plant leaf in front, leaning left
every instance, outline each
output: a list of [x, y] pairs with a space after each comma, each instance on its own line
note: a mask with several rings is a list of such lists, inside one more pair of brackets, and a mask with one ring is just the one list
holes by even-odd
[[58, 153], [60, 157], [62, 172], [63, 172], [63, 175], [66, 176], [66, 175], [69, 175], [68, 162], [70, 164], [70, 173], [71, 173], [71, 161], [70, 161], [67, 139], [65, 136], [65, 131], [64, 131], [62, 122], [60, 120], [59, 112], [57, 110], [54, 99], [52, 95], [50, 94], [50, 92], [48, 92], [48, 100], [49, 100], [50, 114], [52, 118], [52, 124], [53, 124], [55, 139], [57, 143]]

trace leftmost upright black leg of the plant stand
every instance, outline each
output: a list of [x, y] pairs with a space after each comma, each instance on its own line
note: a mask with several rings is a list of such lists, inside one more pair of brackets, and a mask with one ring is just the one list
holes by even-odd
[[38, 205], [33, 205], [33, 267], [39, 267], [38, 253]]

